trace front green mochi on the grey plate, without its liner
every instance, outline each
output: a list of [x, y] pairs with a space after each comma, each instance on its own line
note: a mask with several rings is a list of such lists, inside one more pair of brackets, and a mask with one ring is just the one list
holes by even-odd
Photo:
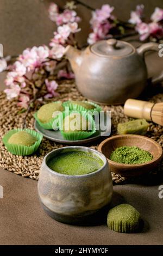
[[[74, 127], [72, 127], [74, 125]], [[79, 131], [88, 131], [90, 122], [82, 116], [82, 114], [71, 113], [64, 118], [63, 121], [63, 130], [64, 132], [79, 132]]]

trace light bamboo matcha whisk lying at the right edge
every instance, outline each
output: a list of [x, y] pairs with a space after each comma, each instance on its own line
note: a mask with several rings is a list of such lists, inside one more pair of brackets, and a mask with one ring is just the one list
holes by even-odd
[[128, 117], [144, 118], [163, 126], [163, 102], [128, 99], [124, 104], [124, 114]]

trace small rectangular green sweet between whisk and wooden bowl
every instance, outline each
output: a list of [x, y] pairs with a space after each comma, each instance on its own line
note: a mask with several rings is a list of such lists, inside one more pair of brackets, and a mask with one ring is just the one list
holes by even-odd
[[149, 124], [145, 119], [136, 119], [126, 123], [118, 124], [117, 131], [119, 134], [139, 134], [145, 135]]

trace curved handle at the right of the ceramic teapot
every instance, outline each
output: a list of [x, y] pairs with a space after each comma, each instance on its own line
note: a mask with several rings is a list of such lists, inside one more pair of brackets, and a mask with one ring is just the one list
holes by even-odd
[[[144, 58], [145, 52], [147, 51], [159, 51], [159, 44], [156, 42], [147, 42], [146, 44], [141, 45], [139, 48], [137, 48], [137, 53]], [[152, 78], [152, 84], [160, 83], [163, 81], [163, 71], [156, 77]]]

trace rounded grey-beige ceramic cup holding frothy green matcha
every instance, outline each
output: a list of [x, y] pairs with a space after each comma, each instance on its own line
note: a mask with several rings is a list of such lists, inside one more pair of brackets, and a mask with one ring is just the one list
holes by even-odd
[[[67, 175], [48, 167], [50, 160], [70, 151], [91, 153], [103, 161], [98, 170], [84, 175]], [[106, 157], [99, 151], [82, 146], [51, 151], [43, 159], [38, 192], [43, 209], [64, 223], [84, 223], [108, 205], [112, 198], [112, 178]]]

